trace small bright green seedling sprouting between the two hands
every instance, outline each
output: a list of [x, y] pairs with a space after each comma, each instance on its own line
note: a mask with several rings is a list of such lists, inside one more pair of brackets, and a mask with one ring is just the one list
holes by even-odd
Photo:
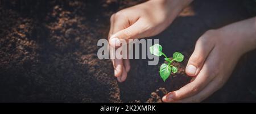
[[172, 65], [172, 62], [173, 61], [177, 61], [177, 62], [181, 62], [183, 61], [183, 54], [179, 53], [179, 52], [175, 52], [173, 55], [172, 55], [172, 60], [166, 56], [166, 54], [164, 54], [162, 52], [162, 46], [159, 45], [159, 44], [155, 44], [155, 45], [152, 45], [150, 47], [150, 53], [151, 54], [154, 54], [155, 56], [164, 56], [164, 60], [166, 60], [168, 62], [168, 64], [162, 64], [160, 66], [160, 69], [159, 69], [159, 73], [160, 73], [160, 76], [161, 78], [163, 79], [163, 81], [165, 82], [166, 79], [170, 76], [171, 72], [172, 73], [177, 73], [177, 67]]

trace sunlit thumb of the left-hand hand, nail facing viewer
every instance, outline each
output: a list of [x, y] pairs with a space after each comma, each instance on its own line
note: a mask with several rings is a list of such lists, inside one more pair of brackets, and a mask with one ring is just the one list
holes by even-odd
[[121, 31], [118, 31], [114, 35], [110, 36], [109, 44], [114, 48], [118, 48], [120, 46], [120, 43], [123, 43], [123, 41], [128, 43], [127, 41], [129, 39], [139, 39], [142, 37], [147, 37], [145, 32], [146, 26], [143, 24], [142, 19], [139, 19], [130, 27], [122, 29]]

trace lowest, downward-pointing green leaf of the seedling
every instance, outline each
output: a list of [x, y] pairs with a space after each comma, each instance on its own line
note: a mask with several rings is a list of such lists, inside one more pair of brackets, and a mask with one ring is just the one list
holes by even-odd
[[162, 64], [160, 66], [160, 70], [159, 70], [160, 76], [163, 79], [163, 81], [165, 82], [166, 79], [170, 76], [171, 74], [171, 66], [167, 65], [167, 64]]

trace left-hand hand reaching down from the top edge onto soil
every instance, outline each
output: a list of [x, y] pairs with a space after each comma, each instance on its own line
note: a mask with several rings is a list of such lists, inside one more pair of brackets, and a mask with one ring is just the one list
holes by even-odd
[[[115, 44], [120, 42], [119, 39], [127, 41], [162, 32], [191, 1], [150, 0], [118, 11], [110, 18], [109, 44], [118, 48]], [[115, 77], [119, 82], [125, 81], [130, 70], [129, 60], [115, 58], [112, 62]]]

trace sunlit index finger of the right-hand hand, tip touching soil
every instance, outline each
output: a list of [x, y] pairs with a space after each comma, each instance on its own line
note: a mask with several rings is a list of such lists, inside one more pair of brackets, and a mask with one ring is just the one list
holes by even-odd
[[214, 66], [218, 65], [213, 58], [216, 58], [214, 57], [214, 53], [210, 53], [207, 61], [205, 61], [205, 64], [203, 65], [203, 69], [200, 71], [197, 77], [195, 77], [195, 80], [181, 87], [177, 91], [168, 93], [163, 97], [163, 101], [172, 102], [174, 100], [185, 99], [203, 90], [203, 88], [207, 86], [216, 75], [218, 75], [216, 68], [214, 68]]

